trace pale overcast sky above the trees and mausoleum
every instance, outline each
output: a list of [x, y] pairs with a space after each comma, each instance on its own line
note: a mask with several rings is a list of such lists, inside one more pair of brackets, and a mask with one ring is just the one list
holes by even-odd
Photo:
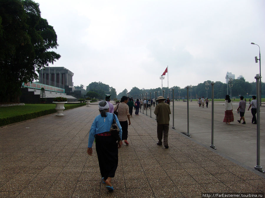
[[57, 33], [61, 58], [49, 66], [72, 71], [74, 86], [157, 88], [167, 66], [163, 87], [225, 83], [227, 71], [253, 82], [259, 47], [250, 43], [265, 57], [264, 0], [35, 2]]

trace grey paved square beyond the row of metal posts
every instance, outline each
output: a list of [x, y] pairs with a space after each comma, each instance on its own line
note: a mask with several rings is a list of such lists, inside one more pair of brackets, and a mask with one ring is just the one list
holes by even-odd
[[[236, 112], [237, 107], [238, 102], [234, 102], [234, 122], [227, 125], [223, 122], [224, 102], [214, 103], [214, 145], [217, 148], [217, 153], [230, 157], [252, 169], [256, 165], [256, 125], [251, 124], [252, 114], [250, 110], [247, 111], [249, 104], [246, 106], [246, 124], [238, 123], [237, 120], [240, 119], [240, 116]], [[172, 102], [170, 109], [173, 110]], [[265, 107], [261, 106], [260, 165], [263, 168], [265, 168], [264, 110]], [[209, 103], [208, 108], [199, 108], [197, 102], [189, 102], [189, 132], [191, 139], [207, 147], [211, 145], [211, 111], [211, 103]], [[151, 107], [151, 116], [155, 119], [153, 112], [154, 108]], [[144, 113], [146, 114], [146, 111]], [[171, 113], [170, 127], [173, 126], [173, 112]], [[150, 116], [150, 109], [148, 109], [147, 114]], [[176, 131], [187, 133], [187, 102], [174, 102], [174, 126]]]

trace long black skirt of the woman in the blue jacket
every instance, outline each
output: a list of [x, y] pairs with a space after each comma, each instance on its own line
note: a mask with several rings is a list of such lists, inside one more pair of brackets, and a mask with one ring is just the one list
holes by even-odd
[[96, 151], [101, 177], [114, 177], [118, 167], [118, 145], [112, 136], [96, 135]]

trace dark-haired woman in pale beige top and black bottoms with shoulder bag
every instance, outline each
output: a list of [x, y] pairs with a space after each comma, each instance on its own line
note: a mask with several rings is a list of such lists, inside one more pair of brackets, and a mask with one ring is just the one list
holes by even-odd
[[[127, 121], [127, 119], [129, 120], [129, 125], [131, 124], [130, 114], [129, 114], [129, 106], [127, 105], [127, 102], [128, 102], [128, 97], [122, 96], [122, 98], [120, 99], [119, 108], [117, 110], [118, 119], [120, 121], [120, 126], [122, 127], [122, 140], [124, 140], [126, 145], [129, 144], [127, 142], [127, 138], [128, 138], [128, 121]], [[114, 107], [114, 111], [116, 111], [116, 109], [117, 109], [117, 105]]]

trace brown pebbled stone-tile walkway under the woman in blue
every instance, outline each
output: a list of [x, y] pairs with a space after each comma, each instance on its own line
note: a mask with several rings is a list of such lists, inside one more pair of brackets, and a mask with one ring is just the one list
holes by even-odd
[[265, 179], [170, 129], [169, 149], [156, 145], [156, 121], [131, 118], [119, 149], [114, 192], [88, 156], [97, 105], [0, 128], [0, 197], [201, 197], [202, 192], [265, 192]]

